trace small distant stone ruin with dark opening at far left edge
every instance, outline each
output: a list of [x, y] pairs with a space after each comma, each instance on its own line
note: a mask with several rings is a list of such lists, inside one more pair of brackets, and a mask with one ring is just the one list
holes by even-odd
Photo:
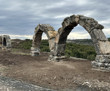
[[10, 50], [11, 48], [11, 39], [9, 35], [0, 36], [0, 47], [2, 50]]

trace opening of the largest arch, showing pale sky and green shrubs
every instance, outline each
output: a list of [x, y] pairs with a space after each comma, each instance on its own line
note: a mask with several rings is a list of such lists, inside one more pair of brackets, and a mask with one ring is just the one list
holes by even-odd
[[74, 27], [68, 34], [65, 46], [66, 57], [95, 60], [96, 52], [93, 42], [89, 33], [80, 25]]

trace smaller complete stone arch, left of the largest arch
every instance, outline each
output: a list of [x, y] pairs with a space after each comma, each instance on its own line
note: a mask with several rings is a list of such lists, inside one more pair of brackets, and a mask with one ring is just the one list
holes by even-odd
[[31, 47], [32, 56], [37, 56], [40, 54], [40, 43], [43, 32], [47, 35], [50, 52], [53, 52], [54, 39], [57, 32], [49, 24], [39, 24], [35, 28], [35, 34], [33, 36], [32, 47]]

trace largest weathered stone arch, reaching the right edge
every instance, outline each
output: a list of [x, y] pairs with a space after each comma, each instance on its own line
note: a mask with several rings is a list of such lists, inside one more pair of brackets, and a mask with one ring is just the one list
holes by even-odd
[[[102, 32], [104, 27], [93, 18], [82, 15], [72, 15], [62, 22], [62, 27], [59, 28], [56, 35], [54, 59], [61, 59], [65, 55], [67, 36], [78, 24], [87, 30], [93, 41], [97, 56], [96, 61], [92, 62], [92, 64], [99, 67], [110, 66], [110, 42]], [[105, 63], [107, 64], [105, 65]]]

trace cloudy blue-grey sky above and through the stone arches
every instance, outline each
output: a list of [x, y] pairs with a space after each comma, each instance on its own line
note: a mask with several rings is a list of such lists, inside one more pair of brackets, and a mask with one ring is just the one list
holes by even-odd
[[[0, 35], [32, 39], [38, 24], [50, 24], [57, 31], [64, 18], [73, 14], [94, 18], [104, 25], [103, 32], [110, 37], [110, 0], [0, 0]], [[89, 34], [79, 25], [68, 36], [87, 38]]]

